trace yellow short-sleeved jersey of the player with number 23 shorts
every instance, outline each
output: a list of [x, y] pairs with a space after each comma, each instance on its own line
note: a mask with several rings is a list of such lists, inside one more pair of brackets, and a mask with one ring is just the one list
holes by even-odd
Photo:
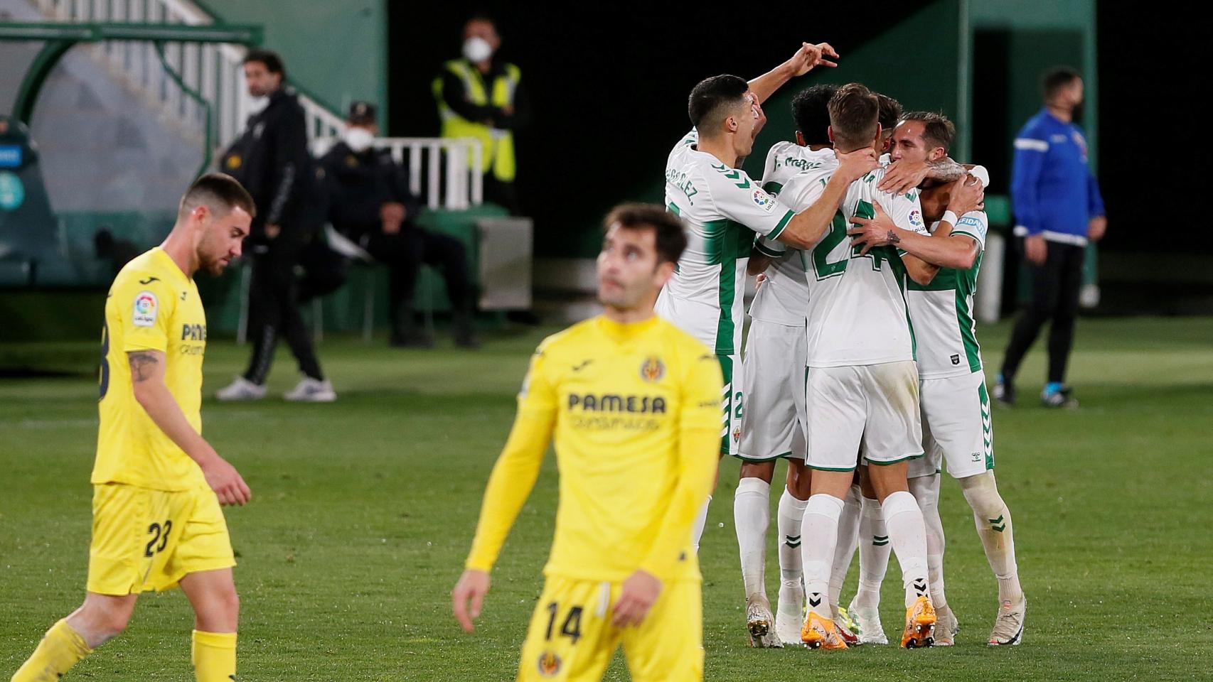
[[206, 314], [194, 281], [160, 247], [126, 264], [106, 298], [101, 337], [101, 428], [93, 483], [156, 491], [205, 485], [203, 470], [135, 400], [127, 353], [159, 350], [164, 383], [189, 424], [201, 432]]

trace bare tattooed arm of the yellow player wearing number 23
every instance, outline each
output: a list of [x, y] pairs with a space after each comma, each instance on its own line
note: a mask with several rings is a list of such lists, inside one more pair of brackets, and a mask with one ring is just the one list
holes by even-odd
[[186, 419], [177, 399], [164, 383], [165, 355], [159, 350], [133, 350], [126, 354], [131, 367], [131, 388], [135, 400], [152, 422], [198, 463], [206, 482], [222, 504], [244, 504], [252, 493], [235, 468], [215, 452], [203, 435]]

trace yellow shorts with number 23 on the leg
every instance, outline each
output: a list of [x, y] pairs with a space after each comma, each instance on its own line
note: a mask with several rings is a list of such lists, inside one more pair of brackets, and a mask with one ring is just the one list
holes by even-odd
[[209, 487], [153, 491], [95, 485], [89, 591], [169, 590], [188, 573], [235, 566], [232, 539]]

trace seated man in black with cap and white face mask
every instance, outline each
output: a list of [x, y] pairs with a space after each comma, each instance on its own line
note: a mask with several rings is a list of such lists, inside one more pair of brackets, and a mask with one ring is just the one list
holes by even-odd
[[375, 107], [354, 102], [346, 125], [341, 142], [320, 157], [326, 216], [337, 231], [388, 267], [392, 345], [433, 345], [412, 316], [417, 275], [426, 263], [440, 269], [446, 282], [456, 345], [474, 346], [473, 290], [463, 243], [416, 225], [421, 201], [409, 191], [408, 173], [391, 150], [371, 147], [378, 132]]

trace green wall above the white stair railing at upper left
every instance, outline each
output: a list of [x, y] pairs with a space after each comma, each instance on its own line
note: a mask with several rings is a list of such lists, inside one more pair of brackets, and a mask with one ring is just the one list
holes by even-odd
[[291, 82], [338, 114], [354, 99], [380, 105], [387, 122], [386, 0], [204, 0], [216, 18], [266, 27]]

